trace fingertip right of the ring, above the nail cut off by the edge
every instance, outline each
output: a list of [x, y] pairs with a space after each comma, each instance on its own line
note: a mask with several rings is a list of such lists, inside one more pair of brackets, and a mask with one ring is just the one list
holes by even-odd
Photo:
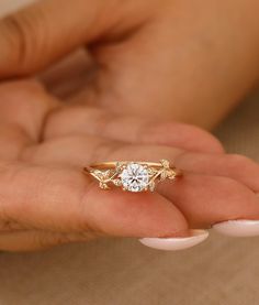
[[258, 196], [228, 177], [184, 174], [173, 184], [160, 184], [158, 189], [179, 207], [192, 228], [233, 219], [259, 219]]

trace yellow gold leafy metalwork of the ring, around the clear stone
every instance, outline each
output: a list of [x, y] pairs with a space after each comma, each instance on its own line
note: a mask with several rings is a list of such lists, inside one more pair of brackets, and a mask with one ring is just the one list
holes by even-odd
[[90, 166], [86, 166], [83, 172], [95, 178], [102, 189], [110, 189], [111, 185], [115, 185], [122, 187], [124, 190], [130, 190], [125, 188], [124, 181], [122, 179], [123, 171], [126, 170], [128, 165], [140, 167], [146, 175], [146, 177], [144, 175], [144, 178], [147, 179], [146, 184], [142, 184], [142, 188], [136, 188], [136, 190], [132, 192], [154, 192], [156, 183], [165, 181], [166, 178], [172, 181], [182, 175], [181, 171], [174, 166], [170, 166], [170, 163], [167, 160], [160, 160], [158, 163], [144, 161], [112, 161], [93, 163]]

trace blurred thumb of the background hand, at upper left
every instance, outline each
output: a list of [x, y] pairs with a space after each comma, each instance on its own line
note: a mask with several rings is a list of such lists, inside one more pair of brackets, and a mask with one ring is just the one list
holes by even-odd
[[103, 31], [105, 1], [45, 0], [0, 21], [0, 77], [34, 73]]

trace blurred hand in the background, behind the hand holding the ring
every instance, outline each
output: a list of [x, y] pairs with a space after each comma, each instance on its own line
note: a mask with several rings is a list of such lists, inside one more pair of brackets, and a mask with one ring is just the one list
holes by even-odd
[[0, 22], [0, 76], [86, 46], [80, 101], [211, 128], [257, 84], [258, 10], [255, 0], [40, 1]]

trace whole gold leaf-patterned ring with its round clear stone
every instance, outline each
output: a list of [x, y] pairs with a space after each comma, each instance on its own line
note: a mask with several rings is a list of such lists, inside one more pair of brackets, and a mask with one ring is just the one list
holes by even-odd
[[155, 162], [115, 161], [94, 163], [83, 168], [99, 182], [99, 187], [110, 189], [111, 185], [128, 192], [154, 192], [156, 183], [165, 179], [176, 179], [181, 171], [170, 166], [168, 160]]

